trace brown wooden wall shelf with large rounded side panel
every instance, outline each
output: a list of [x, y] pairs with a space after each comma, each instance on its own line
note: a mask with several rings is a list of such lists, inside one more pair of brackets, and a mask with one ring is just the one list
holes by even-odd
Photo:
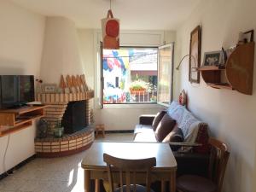
[[230, 54], [225, 67], [202, 66], [202, 78], [216, 89], [237, 90], [253, 94], [254, 42], [241, 44]]

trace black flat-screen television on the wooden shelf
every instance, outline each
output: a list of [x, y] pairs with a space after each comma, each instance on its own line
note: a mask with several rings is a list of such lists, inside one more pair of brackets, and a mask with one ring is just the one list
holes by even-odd
[[0, 75], [0, 108], [19, 108], [34, 101], [33, 75]]

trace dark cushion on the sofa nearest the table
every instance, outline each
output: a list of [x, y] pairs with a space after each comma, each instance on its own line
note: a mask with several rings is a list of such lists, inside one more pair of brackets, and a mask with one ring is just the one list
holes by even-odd
[[[164, 138], [162, 141], [163, 143], [183, 143], [184, 137], [183, 137], [183, 131], [177, 127], [177, 125], [174, 126], [173, 130]], [[178, 148], [181, 146], [178, 145], [171, 145], [172, 151], [177, 151]]]

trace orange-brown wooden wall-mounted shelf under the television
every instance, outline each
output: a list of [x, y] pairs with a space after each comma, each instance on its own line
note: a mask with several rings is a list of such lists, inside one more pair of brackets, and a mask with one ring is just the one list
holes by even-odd
[[44, 117], [44, 108], [47, 107], [42, 105], [0, 109], [0, 137], [31, 126], [33, 119]]

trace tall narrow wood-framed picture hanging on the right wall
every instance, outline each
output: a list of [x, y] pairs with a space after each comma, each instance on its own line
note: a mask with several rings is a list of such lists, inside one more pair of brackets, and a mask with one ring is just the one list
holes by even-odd
[[201, 26], [196, 26], [190, 33], [189, 55], [189, 82], [199, 84], [200, 73], [197, 68], [201, 63]]

